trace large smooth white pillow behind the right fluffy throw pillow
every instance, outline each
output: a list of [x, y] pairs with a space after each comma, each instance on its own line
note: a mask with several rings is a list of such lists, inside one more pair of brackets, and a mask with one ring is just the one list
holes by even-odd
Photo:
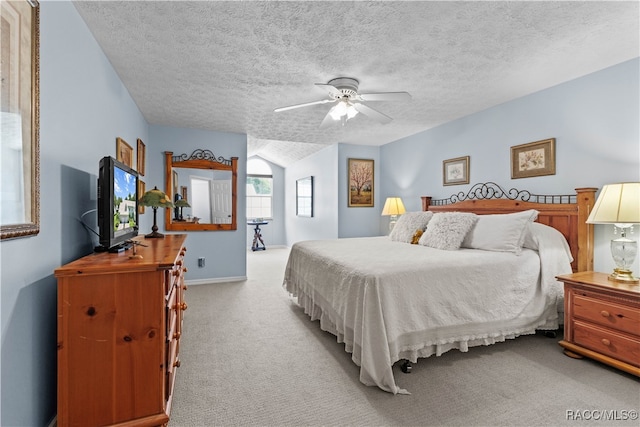
[[527, 226], [536, 218], [538, 211], [535, 209], [511, 214], [478, 215], [478, 221], [465, 237], [462, 247], [519, 254]]

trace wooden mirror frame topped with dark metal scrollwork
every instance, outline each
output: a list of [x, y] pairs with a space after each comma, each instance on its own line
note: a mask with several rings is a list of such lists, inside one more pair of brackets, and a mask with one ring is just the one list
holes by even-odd
[[186, 154], [173, 155], [172, 151], [164, 152], [165, 159], [165, 188], [166, 194], [173, 198], [173, 168], [212, 169], [231, 172], [231, 223], [230, 224], [200, 224], [194, 222], [171, 220], [173, 209], [165, 209], [164, 227], [167, 231], [221, 231], [238, 229], [238, 158], [227, 160], [216, 157], [209, 150], [195, 150], [190, 156]]

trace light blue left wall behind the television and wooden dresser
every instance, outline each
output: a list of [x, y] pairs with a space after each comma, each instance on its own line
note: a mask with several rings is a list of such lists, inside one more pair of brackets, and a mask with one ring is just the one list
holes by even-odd
[[[117, 136], [148, 140], [144, 118], [73, 4], [40, 7], [40, 234], [0, 243], [3, 426], [44, 426], [55, 415], [53, 270], [97, 243], [78, 218], [96, 207], [100, 158], [115, 156]], [[87, 219], [95, 226], [95, 213]]]

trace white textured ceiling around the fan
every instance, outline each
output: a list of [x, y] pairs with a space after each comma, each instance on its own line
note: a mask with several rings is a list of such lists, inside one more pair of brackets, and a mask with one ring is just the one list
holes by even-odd
[[[639, 56], [639, 3], [75, 1], [151, 124], [248, 135], [286, 166], [327, 144], [381, 145]], [[320, 129], [314, 83], [411, 93]]]

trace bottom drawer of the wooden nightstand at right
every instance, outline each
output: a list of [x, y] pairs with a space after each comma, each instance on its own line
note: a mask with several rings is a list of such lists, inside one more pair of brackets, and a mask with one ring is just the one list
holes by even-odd
[[573, 323], [573, 341], [617, 360], [640, 366], [640, 340], [580, 321]]

